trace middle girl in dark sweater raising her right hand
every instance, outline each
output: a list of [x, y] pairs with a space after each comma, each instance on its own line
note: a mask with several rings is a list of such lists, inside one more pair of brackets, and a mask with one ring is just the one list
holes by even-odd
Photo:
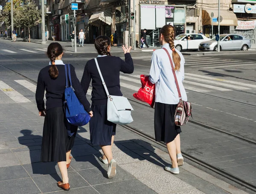
[[[94, 45], [99, 53], [97, 61], [110, 95], [122, 96], [119, 72], [133, 73], [134, 71], [134, 64], [130, 54], [131, 47], [122, 46], [125, 53], [125, 61], [123, 61], [119, 57], [111, 56], [111, 40], [109, 37], [97, 37]], [[112, 155], [116, 124], [107, 120], [107, 96], [94, 59], [89, 60], [84, 67], [84, 74], [81, 79], [84, 93], [87, 93], [91, 79], [93, 86], [91, 109], [94, 116], [90, 120], [90, 141], [94, 145], [101, 146], [104, 155], [99, 157], [99, 160], [102, 163], [109, 164], [108, 178], [112, 178], [116, 175], [116, 161]]]

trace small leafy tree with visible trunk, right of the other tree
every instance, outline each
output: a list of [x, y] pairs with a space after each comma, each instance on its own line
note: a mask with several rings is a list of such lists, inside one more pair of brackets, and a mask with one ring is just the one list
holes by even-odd
[[25, 1], [24, 6], [17, 12], [17, 22], [19, 26], [24, 26], [29, 29], [29, 42], [30, 42], [30, 28], [41, 22], [41, 11], [36, 9], [33, 1]]

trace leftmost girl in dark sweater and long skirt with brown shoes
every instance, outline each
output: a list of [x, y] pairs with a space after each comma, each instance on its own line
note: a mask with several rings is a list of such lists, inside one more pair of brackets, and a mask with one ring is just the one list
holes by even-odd
[[[67, 176], [67, 168], [70, 166], [70, 152], [74, 145], [77, 126], [67, 122], [64, 114], [64, 90], [66, 87], [65, 65], [61, 58], [63, 48], [57, 42], [49, 44], [47, 55], [50, 59], [49, 65], [41, 69], [38, 75], [38, 83], [35, 99], [39, 110], [39, 115], [44, 118], [43, 141], [41, 150], [42, 162], [57, 162], [61, 172], [62, 181], [58, 182], [58, 187], [70, 190]], [[76, 77], [75, 68], [70, 65], [72, 86], [76, 96], [79, 98], [84, 109], [92, 117], [90, 103], [81, 88]], [[46, 109], [44, 105], [44, 91], [46, 90]], [[73, 133], [73, 135], [71, 135]]]

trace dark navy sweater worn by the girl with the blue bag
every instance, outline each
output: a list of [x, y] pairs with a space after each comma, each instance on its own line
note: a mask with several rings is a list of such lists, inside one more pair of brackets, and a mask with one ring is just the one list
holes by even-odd
[[[36, 87], [35, 100], [39, 111], [44, 110], [44, 90], [46, 90], [46, 110], [54, 107], [62, 107], [64, 102], [64, 91], [66, 87], [66, 76], [65, 76], [65, 66], [56, 65], [58, 68], [58, 77], [52, 79], [49, 75], [49, 67], [44, 67], [41, 69], [38, 75], [38, 83]], [[81, 84], [76, 77], [75, 67], [70, 65], [71, 81], [72, 86], [75, 90], [75, 94], [81, 104], [84, 106], [84, 110], [90, 112], [90, 103], [86, 98], [86, 94], [81, 88]]]

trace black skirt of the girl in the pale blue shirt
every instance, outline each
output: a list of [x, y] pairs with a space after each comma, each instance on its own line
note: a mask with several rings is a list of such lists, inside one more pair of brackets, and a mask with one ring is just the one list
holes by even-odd
[[155, 103], [154, 131], [156, 141], [169, 143], [180, 134], [181, 129], [174, 122], [176, 107], [177, 104]]

